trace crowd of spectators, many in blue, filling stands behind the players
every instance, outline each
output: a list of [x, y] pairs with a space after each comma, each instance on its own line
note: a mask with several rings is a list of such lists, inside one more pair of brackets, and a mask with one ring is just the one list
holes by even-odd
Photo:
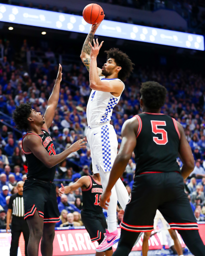
[[[8, 124], [0, 125], [0, 210], [5, 211], [10, 194], [16, 192], [16, 181], [25, 180], [27, 172], [21, 147], [25, 131], [18, 133], [10, 128], [14, 125], [11, 118], [12, 111], [15, 105], [29, 101], [32, 102], [32, 107], [36, 111], [41, 111], [43, 114], [57, 74], [57, 66], [50, 64], [49, 57], [41, 66], [33, 60], [29, 68], [24, 69], [23, 65], [15, 64], [12, 55], [10, 56], [8, 52], [5, 52], [0, 62], [0, 111], [7, 115], [1, 118], [4, 118]], [[204, 76], [202, 73], [183, 69], [168, 70], [153, 66], [136, 68], [125, 82], [125, 90], [113, 109], [111, 124], [117, 134], [118, 148], [123, 122], [141, 112], [140, 83], [147, 80], [158, 81], [166, 87], [167, 98], [161, 112], [174, 117], [184, 128], [186, 139], [196, 161], [193, 172], [188, 180], [184, 181], [184, 187], [196, 219], [203, 220], [205, 213]], [[80, 62], [71, 65], [69, 71], [63, 72], [59, 101], [49, 128], [56, 153], [60, 153], [77, 139], [86, 136], [86, 103], [89, 93], [88, 72]], [[89, 145], [87, 148], [71, 153], [56, 168], [57, 188], [61, 182], [59, 179], [64, 184], [71, 184], [82, 175], [90, 175], [90, 163]], [[178, 163], [181, 165], [179, 159]], [[121, 176], [129, 193], [133, 184], [134, 169], [135, 162], [132, 155]], [[61, 198], [57, 190], [56, 194], [61, 212], [59, 225], [79, 225], [80, 217], [77, 217], [79, 215], [77, 213], [80, 213], [82, 205], [81, 190], [76, 189], [73, 193], [63, 195]]]

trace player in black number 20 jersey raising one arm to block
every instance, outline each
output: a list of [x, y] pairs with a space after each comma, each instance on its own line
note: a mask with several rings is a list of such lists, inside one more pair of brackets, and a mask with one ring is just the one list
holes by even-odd
[[59, 221], [59, 210], [53, 178], [55, 165], [71, 152], [86, 147], [79, 139], [63, 152], [56, 154], [48, 128], [52, 123], [59, 99], [62, 77], [59, 64], [57, 78], [47, 102], [44, 117], [31, 108], [31, 103], [20, 104], [13, 111], [16, 126], [27, 133], [22, 139], [22, 149], [28, 165], [27, 179], [23, 185], [24, 219], [27, 220], [30, 235], [27, 245], [28, 256], [37, 256], [41, 239], [41, 254], [52, 256], [52, 242], [55, 222]]

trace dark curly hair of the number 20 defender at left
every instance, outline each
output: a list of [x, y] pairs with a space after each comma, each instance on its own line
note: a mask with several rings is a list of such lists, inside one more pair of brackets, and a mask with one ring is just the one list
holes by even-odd
[[19, 130], [27, 130], [28, 129], [28, 120], [31, 113], [31, 102], [22, 103], [19, 106], [15, 106], [15, 110], [13, 111], [12, 117], [15, 122], [16, 127]]

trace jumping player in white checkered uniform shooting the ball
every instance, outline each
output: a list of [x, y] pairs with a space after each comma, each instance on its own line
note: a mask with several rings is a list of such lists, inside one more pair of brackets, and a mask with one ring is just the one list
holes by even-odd
[[[133, 69], [133, 63], [122, 51], [111, 48], [107, 51], [107, 61], [102, 68], [97, 67], [97, 55], [101, 42], [93, 39], [100, 23], [92, 25], [81, 51], [81, 59], [89, 71], [91, 93], [86, 107], [87, 141], [90, 145], [93, 173], [99, 173], [103, 190], [106, 188], [109, 173], [117, 154], [117, 137], [109, 123], [112, 109], [118, 103], [124, 89], [124, 81]], [[93, 41], [94, 46], [91, 45]], [[128, 193], [120, 179], [112, 188], [110, 204], [107, 209], [108, 227], [103, 241], [96, 251], [104, 251], [119, 240], [116, 229], [116, 204], [119, 201], [122, 209], [128, 202]]]

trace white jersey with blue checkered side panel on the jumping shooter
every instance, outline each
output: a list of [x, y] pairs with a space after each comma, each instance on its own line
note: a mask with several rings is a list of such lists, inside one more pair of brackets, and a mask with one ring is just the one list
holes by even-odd
[[[107, 78], [104, 78], [104, 76], [100, 76], [99, 78], [101, 81], [106, 81], [106, 82], [110, 82], [113, 80], [121, 81], [118, 78], [107, 79]], [[118, 97], [115, 97], [110, 92], [92, 90], [89, 95], [89, 99], [86, 107], [88, 126], [100, 125], [110, 121], [112, 110], [114, 106], [118, 103], [120, 96], [121, 94]]]

